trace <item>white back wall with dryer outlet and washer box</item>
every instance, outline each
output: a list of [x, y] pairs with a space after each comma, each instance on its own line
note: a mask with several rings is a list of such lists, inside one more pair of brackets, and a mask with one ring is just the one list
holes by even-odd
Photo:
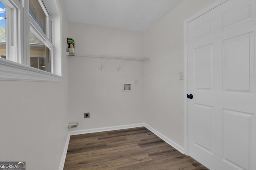
[[[69, 38], [76, 54], [143, 56], [143, 33], [69, 23]], [[92, 129], [144, 122], [144, 63], [142, 61], [69, 57], [70, 121], [77, 128]], [[134, 80], [138, 79], [138, 84]], [[132, 92], [122, 92], [122, 83], [132, 83]], [[90, 112], [90, 118], [84, 113]]]

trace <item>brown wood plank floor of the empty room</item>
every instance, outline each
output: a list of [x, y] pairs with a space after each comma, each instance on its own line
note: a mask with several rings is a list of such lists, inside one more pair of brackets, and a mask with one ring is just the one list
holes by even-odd
[[145, 127], [73, 135], [64, 170], [208, 170]]

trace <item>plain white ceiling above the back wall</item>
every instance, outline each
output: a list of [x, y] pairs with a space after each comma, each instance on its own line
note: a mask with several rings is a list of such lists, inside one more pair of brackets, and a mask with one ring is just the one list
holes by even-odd
[[182, 0], [64, 0], [68, 21], [147, 31]]

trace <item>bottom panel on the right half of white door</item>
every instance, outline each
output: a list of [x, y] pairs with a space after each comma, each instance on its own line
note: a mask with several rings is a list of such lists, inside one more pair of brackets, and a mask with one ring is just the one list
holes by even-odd
[[223, 160], [233, 167], [249, 169], [252, 116], [250, 113], [223, 109]]

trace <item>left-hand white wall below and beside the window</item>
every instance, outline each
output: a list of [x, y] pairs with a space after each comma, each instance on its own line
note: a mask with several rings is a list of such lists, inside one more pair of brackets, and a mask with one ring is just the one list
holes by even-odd
[[[65, 14], [63, 18], [65, 49], [68, 25], [65, 23]], [[1, 161], [26, 161], [28, 170], [59, 168], [68, 135], [66, 55], [63, 55], [63, 76], [61, 83], [0, 82]]]

